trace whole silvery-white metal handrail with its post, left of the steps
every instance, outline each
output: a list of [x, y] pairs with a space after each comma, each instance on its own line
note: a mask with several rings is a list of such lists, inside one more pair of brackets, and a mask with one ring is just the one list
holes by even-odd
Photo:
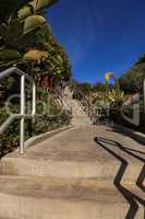
[[20, 153], [24, 153], [24, 145], [25, 145], [25, 80], [29, 81], [33, 85], [33, 100], [32, 100], [32, 114], [29, 115], [32, 118], [36, 115], [36, 84], [32, 77], [29, 77], [24, 71], [17, 68], [9, 68], [2, 72], [0, 72], [0, 80], [16, 73], [21, 77], [21, 112], [20, 114], [12, 114], [1, 126], [0, 126], [0, 135], [3, 134], [7, 128], [15, 120], [20, 119]]

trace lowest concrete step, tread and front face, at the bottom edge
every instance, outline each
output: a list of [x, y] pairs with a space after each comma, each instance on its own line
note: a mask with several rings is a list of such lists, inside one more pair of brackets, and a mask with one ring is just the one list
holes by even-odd
[[[124, 219], [129, 208], [111, 182], [0, 177], [0, 216], [4, 218]], [[143, 214], [141, 207], [136, 219]]]

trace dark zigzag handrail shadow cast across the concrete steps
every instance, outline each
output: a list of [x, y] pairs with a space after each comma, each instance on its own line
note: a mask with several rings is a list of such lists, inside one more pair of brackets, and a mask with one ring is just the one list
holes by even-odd
[[[95, 141], [105, 150], [107, 150], [109, 153], [111, 153], [111, 155], [113, 155], [116, 159], [118, 159], [121, 162], [121, 165], [119, 168], [119, 171], [114, 177], [113, 184], [116, 185], [116, 187], [119, 189], [119, 192], [123, 195], [123, 197], [126, 199], [126, 201], [130, 204], [130, 209], [125, 216], [125, 219], [134, 219], [137, 210], [138, 210], [138, 203], [141, 205], [144, 206], [145, 208], [145, 200], [142, 199], [141, 197], [138, 197], [136, 194], [130, 192], [129, 189], [126, 189], [124, 186], [121, 185], [121, 180], [124, 175], [124, 172], [129, 165], [129, 162], [123, 159], [122, 157], [120, 157], [119, 154], [117, 154], [113, 150], [111, 150], [110, 148], [108, 148], [105, 143], [109, 145], [109, 146], [113, 146], [113, 147], [118, 147], [119, 149], [123, 150], [124, 152], [129, 153], [130, 155], [138, 159], [140, 161], [145, 163], [145, 160], [134, 153], [132, 153], [128, 148], [124, 148], [121, 143], [112, 141], [112, 140], [108, 140], [105, 138], [95, 138]], [[144, 168], [137, 178], [137, 186], [140, 186], [141, 189], [143, 189], [143, 181], [144, 181]], [[142, 185], [142, 186], [141, 186]], [[144, 189], [143, 189], [144, 191]]]

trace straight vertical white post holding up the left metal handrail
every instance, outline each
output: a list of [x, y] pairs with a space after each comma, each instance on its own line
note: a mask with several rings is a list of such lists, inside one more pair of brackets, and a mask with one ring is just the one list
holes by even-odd
[[21, 77], [21, 124], [20, 124], [20, 153], [24, 153], [25, 141], [25, 76]]

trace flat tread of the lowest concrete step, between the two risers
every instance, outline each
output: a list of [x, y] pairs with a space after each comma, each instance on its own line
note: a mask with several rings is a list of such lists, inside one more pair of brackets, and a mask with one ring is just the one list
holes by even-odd
[[[128, 186], [136, 193], [132, 184]], [[111, 181], [98, 178], [64, 180], [53, 177], [0, 176], [0, 194], [75, 201], [126, 203]]]

